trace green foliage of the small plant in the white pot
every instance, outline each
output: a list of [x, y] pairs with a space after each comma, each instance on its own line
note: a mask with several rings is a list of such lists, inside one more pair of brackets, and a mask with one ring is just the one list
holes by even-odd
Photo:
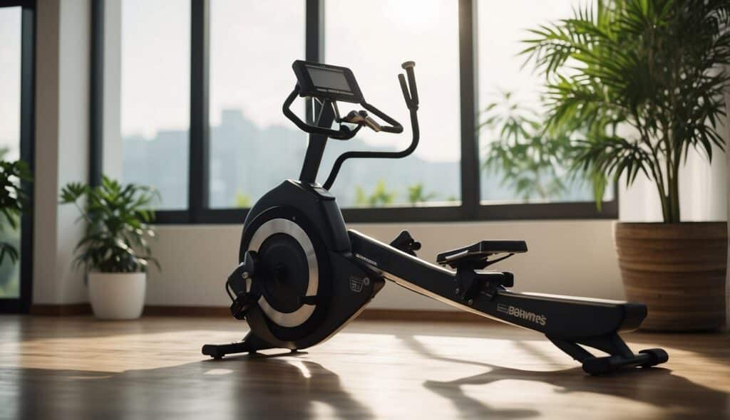
[[159, 268], [147, 243], [155, 236], [150, 204], [157, 198], [151, 187], [120, 184], [107, 176], [96, 187], [66, 184], [61, 203], [73, 203], [86, 222], [86, 233], [75, 249], [76, 264], [101, 273], [144, 272], [149, 263]]

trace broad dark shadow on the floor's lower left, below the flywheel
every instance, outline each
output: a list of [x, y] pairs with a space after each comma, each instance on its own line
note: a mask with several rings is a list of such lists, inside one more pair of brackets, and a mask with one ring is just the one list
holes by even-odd
[[232, 357], [122, 373], [1, 369], [0, 376], [3, 418], [312, 419], [322, 416], [323, 406], [338, 418], [374, 418], [335, 373], [291, 357]]

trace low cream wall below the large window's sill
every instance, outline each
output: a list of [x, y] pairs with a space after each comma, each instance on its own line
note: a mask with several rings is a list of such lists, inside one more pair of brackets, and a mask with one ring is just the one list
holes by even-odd
[[[418, 254], [434, 261], [437, 252], [482, 239], [523, 239], [529, 252], [495, 269], [515, 273], [515, 290], [623, 298], [613, 249], [611, 221], [530, 221], [407, 223], [423, 244]], [[390, 241], [401, 225], [350, 225]], [[153, 253], [163, 271], [150, 273], [148, 305], [227, 306], [223, 282], [237, 265], [241, 227], [235, 225], [160, 226]], [[371, 308], [450, 307], [387, 284]]]

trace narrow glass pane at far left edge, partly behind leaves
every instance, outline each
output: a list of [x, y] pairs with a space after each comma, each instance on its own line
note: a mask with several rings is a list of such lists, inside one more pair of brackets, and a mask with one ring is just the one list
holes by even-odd
[[[20, 7], [0, 8], [0, 159], [20, 158]], [[0, 241], [20, 250], [20, 229], [0, 217]], [[0, 265], [0, 298], [20, 296], [20, 261]]]

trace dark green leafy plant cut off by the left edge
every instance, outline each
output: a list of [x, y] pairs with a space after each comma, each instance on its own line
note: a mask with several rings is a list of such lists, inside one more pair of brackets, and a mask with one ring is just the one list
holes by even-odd
[[[20, 215], [27, 210], [28, 206], [28, 196], [23, 190], [23, 182], [31, 182], [31, 172], [23, 160], [0, 161], [0, 214], [4, 219], [0, 222], [0, 230], [6, 230], [7, 226], [12, 230], [18, 229]], [[0, 263], [6, 257], [15, 263], [20, 254], [15, 244], [2, 240], [0, 241]]]

